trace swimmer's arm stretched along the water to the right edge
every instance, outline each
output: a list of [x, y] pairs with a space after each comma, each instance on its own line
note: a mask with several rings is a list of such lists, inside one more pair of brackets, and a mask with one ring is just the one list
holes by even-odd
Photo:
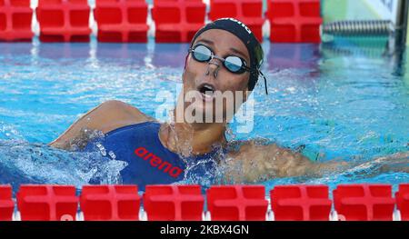
[[378, 174], [409, 173], [409, 152], [376, 157], [366, 162], [331, 160], [313, 162], [303, 154], [276, 144], [244, 144], [238, 152], [228, 155], [224, 165], [225, 179], [230, 183], [257, 183], [277, 177], [336, 174], [359, 166], [374, 166]]

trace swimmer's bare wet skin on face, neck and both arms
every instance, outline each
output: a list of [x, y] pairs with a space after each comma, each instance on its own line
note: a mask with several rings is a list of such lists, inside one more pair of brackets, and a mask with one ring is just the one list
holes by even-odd
[[[227, 55], [242, 57], [246, 64], [250, 65], [250, 57], [244, 43], [227, 31], [219, 29], [205, 31], [195, 39], [194, 46], [197, 44], [208, 46], [214, 55], [223, 58]], [[235, 96], [242, 94], [245, 102], [245, 99], [251, 94], [247, 87], [249, 76], [248, 72], [243, 74], [229, 72], [219, 59], [212, 59], [211, 63], [202, 63], [195, 61], [189, 54], [182, 76], [184, 91], [182, 95], [179, 95], [179, 99], [183, 99], [185, 94], [190, 91], [200, 91], [203, 85], [211, 85], [214, 91], [221, 93], [231, 91]], [[182, 122], [175, 122], [174, 120], [175, 123], [172, 124], [161, 124], [159, 139], [162, 144], [176, 154], [182, 155], [205, 154], [211, 151], [214, 144], [227, 146], [229, 143], [225, 139], [225, 131], [228, 120], [224, 118], [224, 123], [188, 124], [181, 112], [192, 104], [195, 104], [195, 107], [203, 111], [204, 114], [215, 111], [214, 104], [211, 105], [205, 101], [195, 101], [194, 103], [178, 101], [174, 115], [175, 118], [182, 115], [183, 120]], [[226, 105], [222, 107], [222, 110], [224, 111], [223, 115], [225, 115]], [[132, 105], [120, 101], [107, 101], [78, 119], [50, 145], [70, 149], [73, 144], [79, 144], [79, 146], [86, 144], [85, 129], [107, 133], [125, 125], [154, 120]], [[386, 157], [385, 160], [408, 156], [407, 153], [395, 154]], [[274, 177], [320, 176], [351, 167], [350, 164], [339, 161], [314, 163], [303, 154], [290, 149], [276, 144], [257, 144], [252, 140], [243, 142], [240, 147], [229, 152], [226, 158], [220, 161], [220, 164], [225, 168], [226, 179], [235, 183], [257, 182]]]

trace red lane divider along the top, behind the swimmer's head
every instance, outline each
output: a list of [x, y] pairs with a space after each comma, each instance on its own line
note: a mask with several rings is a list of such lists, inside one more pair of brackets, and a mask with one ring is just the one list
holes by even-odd
[[[38, 0], [35, 11], [30, 0], [0, 0], [0, 42], [31, 41], [37, 24], [42, 42], [89, 42], [90, 25], [96, 23], [99, 42], [145, 43], [153, 28], [155, 42], [188, 43], [206, 22], [234, 17], [261, 42], [270, 35], [272, 42], [319, 43], [320, 5], [319, 0], [268, 0], [264, 15], [263, 0], [210, 0], [209, 5], [202, 0], [155, 0], [154, 5], [95, 0], [94, 9], [87, 0]], [[264, 31], [267, 20], [273, 34]]]

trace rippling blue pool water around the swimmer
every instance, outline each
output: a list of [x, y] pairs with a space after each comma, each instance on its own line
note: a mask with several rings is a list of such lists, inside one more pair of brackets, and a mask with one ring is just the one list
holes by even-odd
[[[230, 140], [262, 138], [301, 150], [316, 161], [354, 163], [321, 178], [268, 179], [263, 184], [409, 182], [384, 170], [409, 158], [375, 157], [409, 151], [407, 54], [354, 45], [270, 45], [264, 42], [263, 81], [254, 90], [254, 130]], [[118, 99], [155, 116], [159, 91], [176, 94], [188, 45], [0, 44], [0, 184], [75, 184], [91, 178], [120, 183], [121, 161], [73, 153], [46, 144], [82, 114]]]

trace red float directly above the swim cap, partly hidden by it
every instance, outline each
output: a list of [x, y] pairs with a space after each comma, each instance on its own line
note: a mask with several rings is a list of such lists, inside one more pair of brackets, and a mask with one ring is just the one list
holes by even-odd
[[222, 17], [234, 17], [243, 22], [263, 42], [262, 28], [265, 19], [262, 0], [210, 0], [209, 19], [214, 21]]

